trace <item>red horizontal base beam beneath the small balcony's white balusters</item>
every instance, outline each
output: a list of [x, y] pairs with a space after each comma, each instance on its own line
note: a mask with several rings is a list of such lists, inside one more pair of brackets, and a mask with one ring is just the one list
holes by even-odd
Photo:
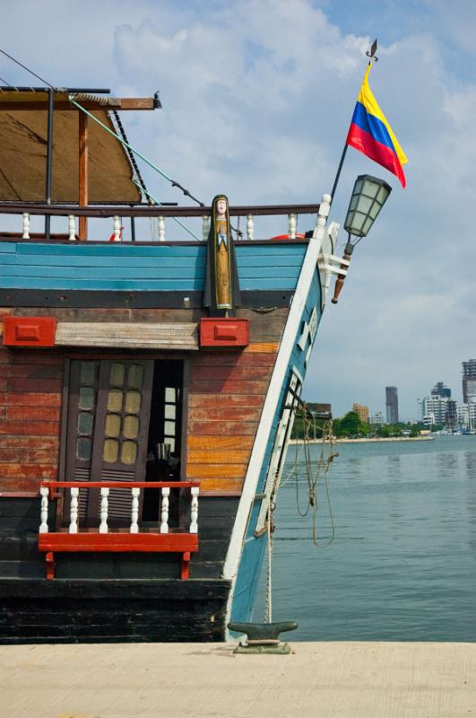
[[196, 533], [40, 533], [39, 551], [135, 551], [186, 553], [198, 551]]

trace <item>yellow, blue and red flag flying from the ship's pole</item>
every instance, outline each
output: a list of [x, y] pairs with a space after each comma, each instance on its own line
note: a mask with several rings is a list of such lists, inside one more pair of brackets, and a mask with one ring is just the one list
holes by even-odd
[[371, 63], [368, 63], [346, 144], [367, 154], [371, 160], [393, 172], [404, 187], [405, 175], [402, 165], [407, 162], [407, 158], [368, 86], [370, 67]]

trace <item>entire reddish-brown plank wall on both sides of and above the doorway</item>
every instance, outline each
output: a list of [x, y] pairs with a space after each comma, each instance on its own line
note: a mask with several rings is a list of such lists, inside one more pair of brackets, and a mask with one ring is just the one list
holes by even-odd
[[[63, 321], [196, 321], [199, 310], [0, 309]], [[190, 353], [186, 477], [202, 494], [239, 495], [273, 372], [287, 308], [239, 310], [250, 321], [244, 351]], [[58, 473], [63, 348], [9, 349], [0, 336], [0, 491], [37, 491]]]

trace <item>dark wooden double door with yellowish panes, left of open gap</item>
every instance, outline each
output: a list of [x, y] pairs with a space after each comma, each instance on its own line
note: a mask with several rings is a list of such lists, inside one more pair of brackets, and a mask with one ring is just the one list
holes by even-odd
[[[153, 361], [74, 361], [66, 479], [143, 480], [151, 413]], [[109, 520], [129, 521], [131, 495], [109, 493]], [[100, 490], [80, 491], [80, 520], [99, 521]]]

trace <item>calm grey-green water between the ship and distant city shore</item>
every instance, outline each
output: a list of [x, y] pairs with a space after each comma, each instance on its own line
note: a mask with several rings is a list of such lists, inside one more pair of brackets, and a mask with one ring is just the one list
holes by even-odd
[[[476, 436], [339, 444], [336, 451], [329, 547], [314, 546], [311, 517], [296, 509], [295, 480], [281, 487], [273, 620], [298, 620], [291, 640], [475, 641]], [[287, 469], [290, 460], [292, 446]], [[316, 521], [325, 541], [331, 524], [323, 488]], [[264, 580], [255, 620], [263, 619], [263, 602]]]

